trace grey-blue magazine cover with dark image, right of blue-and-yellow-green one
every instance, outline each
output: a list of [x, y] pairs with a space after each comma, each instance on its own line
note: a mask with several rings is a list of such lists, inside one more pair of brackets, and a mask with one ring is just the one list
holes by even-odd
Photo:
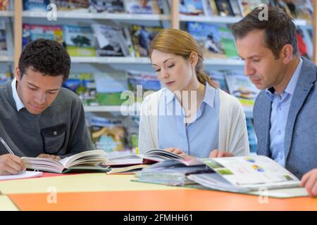
[[98, 56], [130, 56], [128, 32], [123, 27], [93, 24]]

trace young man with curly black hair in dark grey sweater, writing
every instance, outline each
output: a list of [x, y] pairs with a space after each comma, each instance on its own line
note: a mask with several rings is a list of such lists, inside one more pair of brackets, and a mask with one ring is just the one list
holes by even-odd
[[92, 150], [78, 96], [61, 88], [70, 56], [56, 41], [32, 41], [21, 53], [15, 79], [0, 86], [0, 175], [25, 169], [20, 157], [54, 158]]

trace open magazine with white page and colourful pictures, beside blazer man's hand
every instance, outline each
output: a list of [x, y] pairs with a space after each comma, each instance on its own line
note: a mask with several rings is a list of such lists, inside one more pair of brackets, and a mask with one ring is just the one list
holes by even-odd
[[[255, 195], [263, 191], [278, 193], [276, 190], [296, 188], [297, 193], [292, 193], [292, 196], [285, 194], [284, 197], [307, 195], [296, 176], [263, 155], [201, 160], [212, 169], [211, 172], [189, 174], [187, 178], [207, 188]], [[285, 190], [280, 193], [283, 192]], [[282, 198], [281, 195], [273, 197]]]

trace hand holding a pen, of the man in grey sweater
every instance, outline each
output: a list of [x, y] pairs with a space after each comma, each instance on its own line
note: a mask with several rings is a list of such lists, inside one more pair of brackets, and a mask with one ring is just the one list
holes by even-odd
[[23, 160], [15, 155], [0, 155], [0, 175], [18, 174], [25, 171]]

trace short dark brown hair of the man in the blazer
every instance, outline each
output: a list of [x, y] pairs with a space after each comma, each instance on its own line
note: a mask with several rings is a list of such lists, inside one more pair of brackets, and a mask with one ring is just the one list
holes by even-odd
[[231, 27], [235, 39], [242, 39], [254, 30], [264, 30], [264, 43], [271, 49], [275, 58], [279, 58], [280, 51], [285, 44], [291, 44], [293, 55], [297, 56], [296, 26], [292, 18], [284, 11], [268, 6], [268, 20], [260, 20], [259, 13], [263, 9], [254, 8], [251, 13]]

